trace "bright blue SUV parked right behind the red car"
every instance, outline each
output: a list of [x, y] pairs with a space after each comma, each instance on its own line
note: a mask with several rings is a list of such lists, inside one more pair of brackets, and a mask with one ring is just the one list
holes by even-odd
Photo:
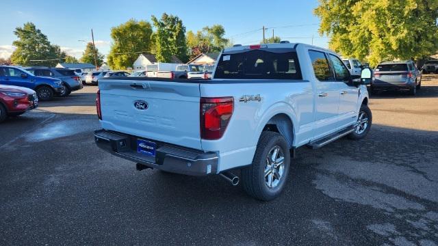
[[14, 66], [0, 66], [0, 84], [27, 87], [36, 91], [40, 100], [49, 100], [53, 96], [60, 96], [66, 90], [60, 79], [37, 77]]

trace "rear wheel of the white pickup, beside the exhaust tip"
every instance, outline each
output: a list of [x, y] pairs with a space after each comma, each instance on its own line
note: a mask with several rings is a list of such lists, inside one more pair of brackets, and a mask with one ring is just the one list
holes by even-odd
[[[279, 170], [272, 172], [272, 165], [267, 163], [268, 156], [272, 150], [278, 148], [283, 152], [283, 172], [280, 175]], [[278, 152], [281, 154], [281, 152]], [[278, 166], [281, 169], [280, 165]], [[258, 200], [270, 201], [278, 197], [283, 191], [287, 181], [290, 167], [290, 152], [286, 139], [279, 133], [271, 131], [263, 131], [261, 133], [259, 143], [253, 159], [253, 164], [244, 167], [241, 170], [242, 187], [248, 195], [255, 197]], [[269, 172], [266, 174], [266, 170]], [[273, 186], [274, 173], [278, 174], [280, 178], [276, 178], [276, 186]], [[272, 174], [272, 176], [270, 176]], [[270, 178], [272, 177], [272, 178]], [[268, 180], [267, 180], [268, 179]], [[272, 187], [269, 187], [269, 182]]]

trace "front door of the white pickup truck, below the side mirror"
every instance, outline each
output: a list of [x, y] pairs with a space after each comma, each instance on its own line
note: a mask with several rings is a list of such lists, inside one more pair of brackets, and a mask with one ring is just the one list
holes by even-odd
[[357, 118], [357, 100], [359, 88], [348, 85], [350, 74], [345, 64], [337, 56], [329, 54], [329, 60], [335, 73], [335, 81], [339, 90], [339, 108], [337, 128], [345, 128], [355, 124]]

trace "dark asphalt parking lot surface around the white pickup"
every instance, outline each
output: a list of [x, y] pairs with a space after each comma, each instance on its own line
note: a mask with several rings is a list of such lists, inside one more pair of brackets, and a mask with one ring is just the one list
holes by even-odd
[[372, 96], [361, 141], [298, 149], [285, 192], [136, 171], [94, 145], [96, 87], [0, 125], [0, 245], [438, 245], [438, 75]]

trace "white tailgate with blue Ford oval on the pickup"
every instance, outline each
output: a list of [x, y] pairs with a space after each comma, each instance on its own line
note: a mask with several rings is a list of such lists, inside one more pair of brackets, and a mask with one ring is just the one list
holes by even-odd
[[199, 84], [99, 80], [104, 129], [201, 150]]

